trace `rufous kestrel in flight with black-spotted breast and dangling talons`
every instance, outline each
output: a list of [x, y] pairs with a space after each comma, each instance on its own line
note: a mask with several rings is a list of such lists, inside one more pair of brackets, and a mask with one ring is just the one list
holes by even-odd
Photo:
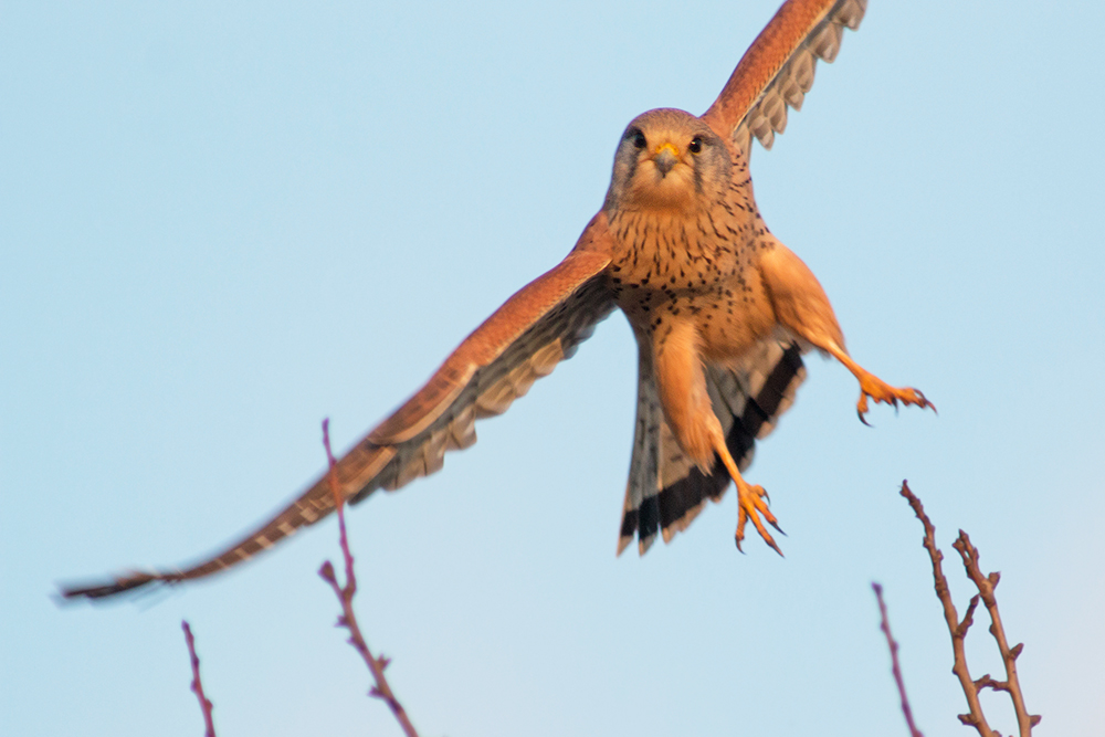
[[[475, 442], [475, 421], [503, 413], [569, 358], [615, 307], [636, 337], [636, 428], [618, 540], [643, 555], [657, 531], [684, 529], [706, 499], [737, 487], [737, 546], [751, 520], [778, 546], [762, 487], [740, 472], [804, 378], [817, 348], [860, 382], [867, 400], [932, 407], [861, 368], [844, 349], [829, 298], [812, 272], [776, 239], [753, 198], [753, 138], [770, 148], [831, 62], [843, 29], [859, 28], [866, 0], [788, 0], [745, 53], [701, 117], [654, 109], [634, 118], [614, 154], [602, 208], [571, 252], [523, 287], [445, 359], [430, 380], [369, 432], [335, 470], [356, 504], [442, 466], [445, 451]], [[935, 408], [934, 408], [935, 409]], [[134, 572], [66, 597], [102, 598], [156, 581], [200, 578], [271, 548], [334, 510], [326, 476], [225, 551], [185, 570]]]

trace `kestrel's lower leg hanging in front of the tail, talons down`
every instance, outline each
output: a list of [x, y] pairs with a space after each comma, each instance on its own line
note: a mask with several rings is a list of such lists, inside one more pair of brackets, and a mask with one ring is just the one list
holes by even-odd
[[706, 376], [697, 341], [697, 331], [690, 323], [669, 323], [653, 336], [656, 389], [667, 425], [680, 448], [704, 474], [708, 476], [713, 472], [716, 453], [737, 485], [737, 548], [745, 539], [745, 523], [751, 519], [764, 541], [781, 556], [782, 551], [760, 519], [762, 514], [764, 519], [779, 529], [778, 520], [767, 506], [767, 492], [740, 476], [740, 470], [725, 444], [722, 423], [714, 414], [709, 392], [706, 391]]

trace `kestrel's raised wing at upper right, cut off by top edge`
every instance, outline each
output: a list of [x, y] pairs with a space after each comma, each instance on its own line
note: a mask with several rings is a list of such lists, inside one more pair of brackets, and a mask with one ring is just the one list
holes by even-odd
[[722, 94], [702, 116], [719, 136], [748, 150], [750, 135], [771, 148], [801, 109], [819, 59], [832, 62], [844, 27], [860, 28], [867, 0], [787, 0], [748, 48]]

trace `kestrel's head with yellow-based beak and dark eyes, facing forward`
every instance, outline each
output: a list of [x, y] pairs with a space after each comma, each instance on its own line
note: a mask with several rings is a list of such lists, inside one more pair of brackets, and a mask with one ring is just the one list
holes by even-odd
[[604, 208], [694, 211], [722, 197], [733, 161], [708, 125], [683, 110], [649, 110], [625, 128]]

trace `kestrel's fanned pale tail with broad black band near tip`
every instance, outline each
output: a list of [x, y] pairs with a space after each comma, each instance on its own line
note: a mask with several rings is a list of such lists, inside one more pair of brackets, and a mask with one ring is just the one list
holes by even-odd
[[[635, 535], [638, 550], [643, 556], [657, 531], [664, 543], [671, 543], [676, 533], [686, 529], [698, 516], [706, 499], [720, 501], [729, 484], [729, 473], [716, 455], [714, 467], [706, 475], [683, 454], [660, 406], [652, 351], [646, 344], [639, 341], [639, 345], [636, 432], [618, 552]], [[756, 441], [775, 430], [779, 415], [793, 403], [794, 392], [804, 378], [802, 351], [789, 340], [765, 340], [733, 367], [706, 367], [706, 388], [714, 414], [741, 471], [753, 461]]]

